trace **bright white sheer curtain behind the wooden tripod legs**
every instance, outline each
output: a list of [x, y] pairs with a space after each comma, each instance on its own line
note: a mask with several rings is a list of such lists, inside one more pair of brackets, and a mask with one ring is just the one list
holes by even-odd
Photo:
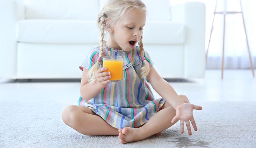
[[[192, 0], [171, 0], [171, 5]], [[197, 0], [206, 4], [206, 50], [209, 44], [211, 24], [216, 0]], [[227, 0], [226, 11], [241, 11], [239, 0]], [[256, 68], [256, 1], [242, 0], [244, 21], [253, 66]], [[218, 0], [217, 10], [224, 10], [224, 0]], [[213, 23], [209, 52], [207, 57], [207, 69], [220, 69], [222, 62], [223, 26], [224, 15], [216, 14]], [[227, 14], [225, 28], [224, 68], [225, 69], [249, 69], [250, 60], [244, 33], [242, 14]]]

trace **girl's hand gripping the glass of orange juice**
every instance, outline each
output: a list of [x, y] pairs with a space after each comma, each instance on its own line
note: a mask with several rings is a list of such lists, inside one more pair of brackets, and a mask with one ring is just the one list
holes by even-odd
[[109, 79], [111, 78], [111, 75], [110, 75], [110, 72], [105, 72], [106, 70], [107, 70], [106, 67], [102, 67], [97, 71], [97, 75], [96, 75], [97, 81], [102, 85], [107, 85], [110, 82]]

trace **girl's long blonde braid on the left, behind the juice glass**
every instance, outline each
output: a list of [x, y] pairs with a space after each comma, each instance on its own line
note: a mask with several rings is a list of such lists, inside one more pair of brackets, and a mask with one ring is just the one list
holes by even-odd
[[[104, 49], [104, 31], [105, 31], [105, 20], [107, 16], [106, 14], [98, 15], [98, 24], [101, 31], [101, 39], [99, 41], [99, 58], [103, 57], [103, 49]], [[99, 70], [99, 61], [97, 61], [88, 72], [88, 80], [89, 84], [93, 83], [96, 80], [96, 73]]]

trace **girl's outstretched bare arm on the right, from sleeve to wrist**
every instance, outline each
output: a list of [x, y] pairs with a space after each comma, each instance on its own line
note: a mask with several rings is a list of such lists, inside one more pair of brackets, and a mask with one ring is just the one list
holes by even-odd
[[147, 76], [153, 89], [164, 98], [175, 110], [178, 106], [185, 102], [178, 96], [173, 87], [165, 81], [152, 66], [150, 67], [150, 73]]

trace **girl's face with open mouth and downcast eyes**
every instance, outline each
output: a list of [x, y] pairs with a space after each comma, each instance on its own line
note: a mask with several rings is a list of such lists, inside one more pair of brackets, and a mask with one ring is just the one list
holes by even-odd
[[106, 46], [130, 51], [140, 41], [146, 22], [145, 11], [132, 9], [112, 26]]

